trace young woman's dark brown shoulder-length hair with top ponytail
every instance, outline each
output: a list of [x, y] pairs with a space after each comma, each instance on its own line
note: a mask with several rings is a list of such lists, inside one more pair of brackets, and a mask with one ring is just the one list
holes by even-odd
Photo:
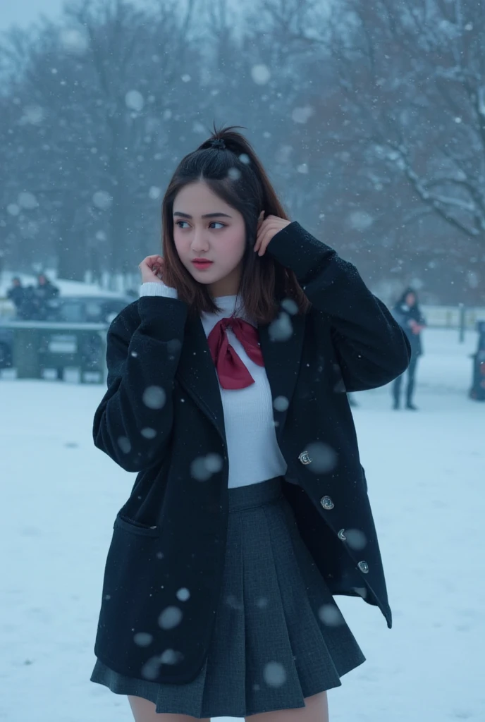
[[[289, 220], [276, 196], [271, 182], [245, 136], [227, 126], [217, 129], [195, 151], [186, 155], [168, 184], [162, 202], [162, 247], [165, 258], [164, 281], [175, 287], [180, 300], [188, 303], [193, 315], [202, 311], [215, 313], [219, 308], [204, 284], [199, 284], [185, 269], [173, 240], [173, 202], [180, 188], [188, 183], [204, 181], [211, 191], [243, 215], [246, 248], [239, 294], [245, 310], [258, 323], [270, 323], [278, 313], [278, 301], [291, 298], [298, 313], [307, 313], [311, 304], [302, 291], [297, 277], [265, 253], [253, 252], [256, 242], [258, 216], [262, 210]], [[214, 147], [211, 142], [222, 140]], [[224, 147], [225, 146], [225, 147]]]

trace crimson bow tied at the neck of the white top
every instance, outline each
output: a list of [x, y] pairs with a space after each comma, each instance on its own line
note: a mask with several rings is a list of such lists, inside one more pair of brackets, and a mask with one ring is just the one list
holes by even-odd
[[258, 342], [258, 330], [242, 318], [221, 318], [207, 336], [211, 357], [222, 388], [246, 388], [254, 383], [254, 379], [235, 349], [230, 346], [226, 333], [228, 328], [242, 344], [250, 360], [258, 366], [264, 366], [263, 353]]

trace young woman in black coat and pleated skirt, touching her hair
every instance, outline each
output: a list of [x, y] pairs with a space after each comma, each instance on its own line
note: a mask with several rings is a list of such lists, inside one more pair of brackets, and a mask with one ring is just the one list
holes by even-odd
[[138, 474], [91, 679], [136, 722], [325, 722], [365, 660], [333, 596], [392, 624], [346, 392], [403, 373], [408, 342], [234, 126], [180, 162], [162, 227], [95, 413], [97, 447]]

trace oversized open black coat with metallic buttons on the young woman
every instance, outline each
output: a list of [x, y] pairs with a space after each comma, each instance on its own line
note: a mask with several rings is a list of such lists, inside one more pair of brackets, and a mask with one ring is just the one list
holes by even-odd
[[[297, 222], [266, 252], [293, 269], [313, 303], [291, 315], [282, 300], [276, 321], [259, 326], [271, 393], [289, 400], [274, 410], [297, 482], [284, 482], [284, 493], [332, 593], [379, 606], [391, 627], [346, 391], [403, 373], [408, 342], [357, 269]], [[201, 320], [187, 311], [178, 299], [141, 297], [111, 323], [108, 391], [93, 431], [98, 448], [139, 472], [114, 521], [95, 654], [121, 674], [180, 684], [197, 676], [209, 648], [228, 497], [219, 383]]]

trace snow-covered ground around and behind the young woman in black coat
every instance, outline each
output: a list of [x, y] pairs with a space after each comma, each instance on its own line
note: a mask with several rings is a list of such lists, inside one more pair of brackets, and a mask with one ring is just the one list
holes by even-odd
[[[485, 403], [467, 397], [476, 334], [428, 330], [420, 412], [390, 389], [354, 417], [394, 626], [337, 597], [367, 661], [328, 694], [331, 722], [485, 720]], [[101, 386], [0, 379], [0, 719], [131, 722], [89, 682], [105, 554], [134, 474], [92, 444]], [[228, 718], [224, 718], [228, 719]]]

